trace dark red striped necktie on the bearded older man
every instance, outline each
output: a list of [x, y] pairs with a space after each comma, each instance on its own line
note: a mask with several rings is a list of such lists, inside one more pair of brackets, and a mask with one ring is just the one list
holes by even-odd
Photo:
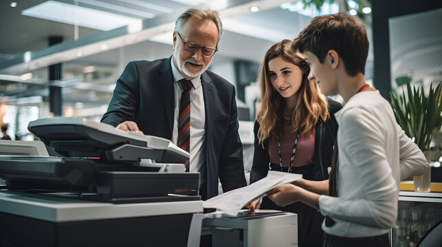
[[[179, 121], [178, 121], [178, 147], [190, 152], [190, 89], [192, 82], [190, 80], [179, 80], [182, 94], [179, 102]], [[186, 163], [186, 169], [188, 169]]]

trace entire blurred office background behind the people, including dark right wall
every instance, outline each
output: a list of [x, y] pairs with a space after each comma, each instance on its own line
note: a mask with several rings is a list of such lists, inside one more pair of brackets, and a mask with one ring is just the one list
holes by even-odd
[[[265, 51], [293, 39], [313, 16], [346, 12], [370, 40], [366, 79], [389, 99], [409, 80], [442, 78], [442, 4], [379, 0], [27, 0], [0, 1], [0, 121], [12, 139], [32, 140], [29, 121], [99, 121], [131, 60], [172, 54], [177, 16], [219, 10], [224, 34], [210, 70], [236, 86], [243, 142], [253, 141], [256, 75]], [[245, 126], [245, 127], [244, 127]]]

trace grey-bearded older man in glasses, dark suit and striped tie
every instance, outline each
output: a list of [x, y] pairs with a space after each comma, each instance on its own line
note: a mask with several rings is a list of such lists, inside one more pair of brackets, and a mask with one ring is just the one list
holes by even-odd
[[[178, 17], [173, 56], [132, 61], [117, 81], [102, 122], [163, 137], [190, 152], [203, 200], [246, 185], [235, 89], [207, 71], [223, 33], [216, 10], [190, 8]], [[189, 167], [190, 166], [190, 167]]]

